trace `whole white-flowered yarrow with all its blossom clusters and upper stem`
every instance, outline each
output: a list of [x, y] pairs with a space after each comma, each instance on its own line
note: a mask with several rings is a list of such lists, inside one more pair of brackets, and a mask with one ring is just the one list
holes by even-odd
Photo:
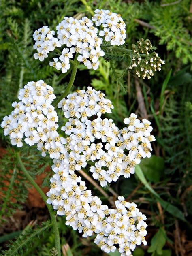
[[[120, 15], [98, 9], [95, 13], [92, 21], [87, 17], [80, 20], [65, 17], [56, 27], [57, 37], [47, 26], [34, 32], [34, 49], [38, 51], [34, 58], [43, 61], [49, 52], [66, 45], [50, 65], [62, 73], [70, 69], [70, 64], [73, 66], [68, 87], [54, 104], [62, 108], [67, 119], [61, 128], [64, 137], [58, 133], [58, 115], [52, 104], [56, 96], [43, 80], [29, 82], [19, 91], [20, 101], [13, 102], [14, 110], [4, 117], [1, 126], [12, 145], [22, 147], [23, 141], [36, 145], [42, 156], [48, 154], [53, 160], [54, 175], [47, 203], [53, 205], [58, 215], [66, 215], [66, 225], [83, 233], [83, 237], [96, 233], [95, 243], [102, 250], [108, 253], [118, 248], [125, 256], [132, 255], [136, 245], [147, 244], [146, 216], [123, 196], [115, 201], [115, 209], [103, 205], [98, 196], [87, 190], [78, 171], [87, 167], [102, 187], [120, 176], [129, 178], [141, 158], [151, 156], [151, 142], [155, 138], [150, 122], [146, 119], [141, 122], [134, 113], [124, 119], [126, 127], [121, 130], [112, 119], [103, 117], [111, 113], [113, 105], [101, 91], [88, 87], [69, 93], [79, 62], [96, 69], [98, 59], [105, 55], [99, 36], [105, 36], [112, 46], [125, 43], [125, 23]], [[100, 31], [93, 22], [100, 26]], [[150, 43], [146, 45], [150, 50]], [[140, 51], [147, 54], [146, 45], [141, 42]], [[139, 56], [137, 47], [133, 51]], [[74, 60], [73, 53], [76, 53]], [[154, 58], [150, 63], [157, 61], [160, 60]]]

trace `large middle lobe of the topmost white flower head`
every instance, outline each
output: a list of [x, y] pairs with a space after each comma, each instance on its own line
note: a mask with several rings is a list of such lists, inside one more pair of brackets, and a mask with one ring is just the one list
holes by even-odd
[[[77, 20], [72, 17], [65, 17], [56, 29], [60, 44], [70, 47], [72, 53], [79, 53], [77, 58], [79, 62], [83, 62], [89, 69], [98, 68], [98, 58], [104, 56], [105, 53], [100, 48], [102, 38], [98, 37], [98, 29], [93, 26], [90, 19], [84, 17]], [[69, 51], [68, 48], [65, 50]], [[65, 57], [65, 53], [62, 52], [62, 56]], [[62, 60], [62, 62], [66, 63], [66, 60]]]

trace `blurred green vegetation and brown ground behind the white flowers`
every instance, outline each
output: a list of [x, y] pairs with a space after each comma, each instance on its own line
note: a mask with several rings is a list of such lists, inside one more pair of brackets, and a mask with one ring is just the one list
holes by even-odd
[[[137, 203], [147, 215], [148, 245], [136, 249], [134, 256], [191, 256], [190, 0], [0, 0], [0, 119], [11, 113], [11, 103], [17, 100], [19, 88], [28, 81], [43, 79], [58, 95], [68, 83], [68, 75], [64, 77], [55, 71], [48, 65], [49, 60], [43, 63], [34, 60], [34, 30], [45, 25], [55, 29], [64, 16], [77, 13], [92, 17], [92, 10], [96, 8], [121, 13], [126, 21], [128, 49], [139, 38], [148, 38], [157, 47], [165, 65], [149, 80], [131, 75], [124, 55], [106, 54], [106, 60], [96, 71], [80, 66], [73, 91], [88, 85], [104, 91], [115, 106], [111, 118], [119, 127], [133, 112], [152, 122], [156, 137], [153, 156], [142, 160], [137, 175], [130, 179], [120, 178], [105, 190], [105, 196], [88, 181], [87, 186], [106, 204], [112, 204], [117, 194], [123, 195], [126, 200]], [[60, 116], [60, 123], [63, 121]], [[15, 159], [15, 150], [1, 129], [0, 254], [55, 255], [49, 213], [36, 191], [26, 182]], [[52, 174], [49, 158], [42, 158], [35, 147], [24, 145], [19, 151], [30, 174], [47, 191]], [[64, 218], [58, 217], [64, 256], [107, 255], [94, 244], [94, 237], [82, 238], [64, 223]]]

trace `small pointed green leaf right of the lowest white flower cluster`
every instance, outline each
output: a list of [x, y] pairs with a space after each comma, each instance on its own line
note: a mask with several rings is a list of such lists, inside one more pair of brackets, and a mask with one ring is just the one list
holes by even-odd
[[162, 248], [166, 243], [166, 234], [164, 229], [160, 228], [158, 232], [151, 239], [151, 246], [147, 252], [156, 252], [158, 255], [164, 255]]

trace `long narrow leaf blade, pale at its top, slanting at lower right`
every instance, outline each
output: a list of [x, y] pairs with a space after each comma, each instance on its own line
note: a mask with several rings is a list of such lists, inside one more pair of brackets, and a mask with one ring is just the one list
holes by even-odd
[[150, 184], [145, 179], [145, 176], [143, 174], [143, 171], [139, 165], [135, 166], [135, 174], [140, 179], [140, 181], [145, 185], [145, 187], [156, 197], [157, 201], [162, 205], [162, 207], [165, 209], [165, 211], [169, 212], [171, 215], [173, 215], [175, 218], [178, 218], [179, 220], [182, 220], [184, 222], [187, 222], [186, 219], [183, 216], [182, 211], [180, 211], [176, 206], [171, 205], [169, 202], [164, 201], [156, 192], [155, 190], [150, 186]]

